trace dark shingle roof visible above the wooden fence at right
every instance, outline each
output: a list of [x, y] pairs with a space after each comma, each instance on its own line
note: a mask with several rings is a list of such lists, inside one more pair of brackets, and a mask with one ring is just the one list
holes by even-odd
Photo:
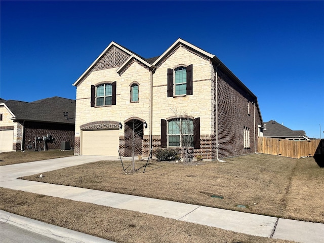
[[263, 130], [264, 137], [294, 137], [305, 136], [303, 130], [291, 130], [284, 125], [277, 123], [275, 120], [269, 120], [265, 123], [265, 130]]

